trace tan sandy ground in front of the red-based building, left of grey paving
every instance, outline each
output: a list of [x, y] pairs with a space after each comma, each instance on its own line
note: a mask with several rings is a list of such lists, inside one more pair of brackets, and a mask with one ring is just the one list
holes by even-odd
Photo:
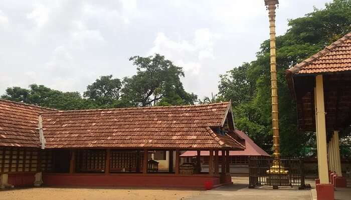
[[24, 188], [0, 191], [2, 200], [175, 200], [199, 195], [201, 191], [181, 189], [118, 188]]

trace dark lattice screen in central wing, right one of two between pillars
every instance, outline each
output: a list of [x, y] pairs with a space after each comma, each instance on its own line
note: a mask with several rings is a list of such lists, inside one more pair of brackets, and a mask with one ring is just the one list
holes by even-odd
[[[143, 153], [139, 153], [139, 165], [142, 169]], [[136, 151], [117, 151], [112, 150], [110, 156], [110, 171], [111, 172], [135, 172], [137, 166]]]

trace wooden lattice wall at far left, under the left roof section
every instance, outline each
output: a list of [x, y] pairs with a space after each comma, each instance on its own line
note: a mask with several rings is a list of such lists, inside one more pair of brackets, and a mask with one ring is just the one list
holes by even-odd
[[38, 171], [39, 149], [0, 147], [0, 173]]

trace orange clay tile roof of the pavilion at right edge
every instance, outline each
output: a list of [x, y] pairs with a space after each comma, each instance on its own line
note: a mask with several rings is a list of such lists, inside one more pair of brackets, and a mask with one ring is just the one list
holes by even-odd
[[289, 68], [293, 74], [351, 71], [351, 32]]

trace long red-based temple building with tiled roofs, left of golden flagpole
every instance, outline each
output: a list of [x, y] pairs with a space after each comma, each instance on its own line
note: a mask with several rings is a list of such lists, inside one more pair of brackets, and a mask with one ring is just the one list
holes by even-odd
[[[186, 186], [231, 183], [230, 150], [244, 150], [230, 102], [59, 111], [0, 100], [1, 187]], [[155, 151], [171, 156], [158, 171]], [[209, 172], [183, 173], [180, 153], [205, 150]]]

